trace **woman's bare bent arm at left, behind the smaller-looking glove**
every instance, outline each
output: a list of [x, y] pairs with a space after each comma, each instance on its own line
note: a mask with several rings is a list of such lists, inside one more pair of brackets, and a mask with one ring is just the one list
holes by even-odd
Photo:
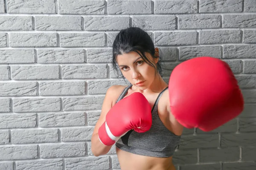
[[109, 150], [112, 147], [112, 146], [106, 146], [105, 144], [102, 144], [102, 142], [100, 142], [99, 136], [98, 136], [98, 130], [99, 130], [99, 127], [105, 122], [105, 118], [108, 111], [112, 108], [113, 96], [115, 96], [113, 94], [116, 94], [115, 85], [111, 86], [105, 95], [105, 99], [102, 105], [102, 112], [93, 130], [93, 134], [91, 137], [91, 150], [94, 156], [105, 155], [109, 152]]

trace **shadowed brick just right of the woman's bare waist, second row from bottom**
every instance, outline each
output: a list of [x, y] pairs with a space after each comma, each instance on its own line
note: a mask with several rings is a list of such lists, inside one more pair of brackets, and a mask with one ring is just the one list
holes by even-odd
[[173, 155], [174, 164], [195, 164], [198, 162], [198, 153], [193, 150], [176, 150]]

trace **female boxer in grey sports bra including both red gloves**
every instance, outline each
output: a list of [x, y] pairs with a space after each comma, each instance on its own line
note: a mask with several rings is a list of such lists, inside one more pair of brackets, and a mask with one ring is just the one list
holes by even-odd
[[108, 89], [91, 142], [95, 156], [115, 144], [122, 170], [175, 170], [172, 156], [183, 126], [210, 131], [243, 111], [243, 96], [226, 62], [189, 59], [175, 67], [167, 85], [159, 50], [140, 28], [116, 36], [113, 66], [131, 85]]

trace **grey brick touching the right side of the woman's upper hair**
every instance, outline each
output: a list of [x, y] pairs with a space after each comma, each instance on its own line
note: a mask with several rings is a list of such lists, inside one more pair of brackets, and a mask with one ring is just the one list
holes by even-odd
[[155, 45], [190, 45], [197, 44], [196, 31], [155, 32]]

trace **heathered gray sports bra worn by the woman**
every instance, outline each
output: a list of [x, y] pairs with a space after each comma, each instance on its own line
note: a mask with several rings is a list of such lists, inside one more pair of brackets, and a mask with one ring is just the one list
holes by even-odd
[[[131, 86], [122, 91], [116, 103], [125, 96]], [[150, 130], [145, 133], [137, 133], [134, 130], [128, 131], [116, 142], [117, 148], [129, 153], [151, 157], [166, 158], [173, 155], [180, 141], [180, 136], [175, 135], [163, 125], [157, 112], [159, 99], [166, 89], [157, 96], [152, 108], [152, 126]]]

